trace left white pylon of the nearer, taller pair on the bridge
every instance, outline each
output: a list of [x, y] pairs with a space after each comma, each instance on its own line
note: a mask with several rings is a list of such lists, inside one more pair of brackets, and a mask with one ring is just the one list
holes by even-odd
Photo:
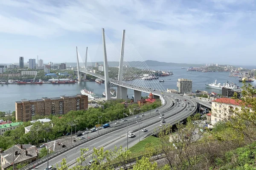
[[107, 48], [106, 48], [104, 28], [102, 28], [102, 42], [103, 42], [103, 54], [104, 54], [105, 95], [106, 95], [106, 100], [109, 100], [111, 99], [111, 94], [110, 94], [110, 88], [109, 88], [108, 59], [107, 59]]

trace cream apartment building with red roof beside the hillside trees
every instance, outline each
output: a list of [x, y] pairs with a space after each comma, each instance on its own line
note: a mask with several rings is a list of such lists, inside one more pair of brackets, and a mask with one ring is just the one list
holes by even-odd
[[[239, 100], [240, 101], [240, 100]], [[233, 111], [238, 108], [241, 111], [239, 102], [230, 98], [219, 98], [212, 100], [212, 113], [211, 123], [214, 125], [216, 122], [229, 119], [233, 115]]]

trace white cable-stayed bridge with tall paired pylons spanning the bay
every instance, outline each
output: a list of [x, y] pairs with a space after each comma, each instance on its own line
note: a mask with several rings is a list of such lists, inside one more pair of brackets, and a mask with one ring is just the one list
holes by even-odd
[[[127, 89], [134, 90], [134, 102], [140, 100], [141, 92], [154, 92], [155, 95], [161, 96], [161, 92], [165, 91], [163, 86], [155, 77], [154, 73], [146, 65], [138, 51], [134, 48], [129, 38], [125, 35], [125, 30], [122, 32], [121, 51], [119, 52], [115, 45], [111, 42], [108, 36], [105, 35], [105, 30], [102, 28], [102, 46], [104, 70], [98, 68], [89, 69], [87, 67], [87, 54], [84, 60], [84, 67], [79, 65], [79, 52], [76, 48], [78, 81], [81, 81], [81, 74], [90, 74], [99, 79], [105, 80], [105, 96], [106, 99], [111, 99], [110, 88], [117, 87], [116, 98], [127, 99]], [[111, 57], [113, 63], [108, 65], [108, 57]]]

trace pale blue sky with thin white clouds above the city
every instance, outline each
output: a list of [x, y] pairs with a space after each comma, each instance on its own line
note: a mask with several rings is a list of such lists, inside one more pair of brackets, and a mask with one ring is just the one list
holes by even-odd
[[256, 62], [255, 0], [0, 0], [0, 63], [76, 62], [76, 46], [103, 61], [102, 28], [118, 51], [125, 29], [144, 60]]

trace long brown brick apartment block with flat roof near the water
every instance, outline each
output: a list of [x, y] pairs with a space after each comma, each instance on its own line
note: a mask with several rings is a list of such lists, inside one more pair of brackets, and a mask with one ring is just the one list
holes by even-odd
[[87, 110], [88, 96], [60, 96], [54, 98], [44, 97], [37, 100], [23, 99], [15, 102], [16, 121], [28, 122], [32, 116], [48, 116], [66, 114], [69, 111]]

